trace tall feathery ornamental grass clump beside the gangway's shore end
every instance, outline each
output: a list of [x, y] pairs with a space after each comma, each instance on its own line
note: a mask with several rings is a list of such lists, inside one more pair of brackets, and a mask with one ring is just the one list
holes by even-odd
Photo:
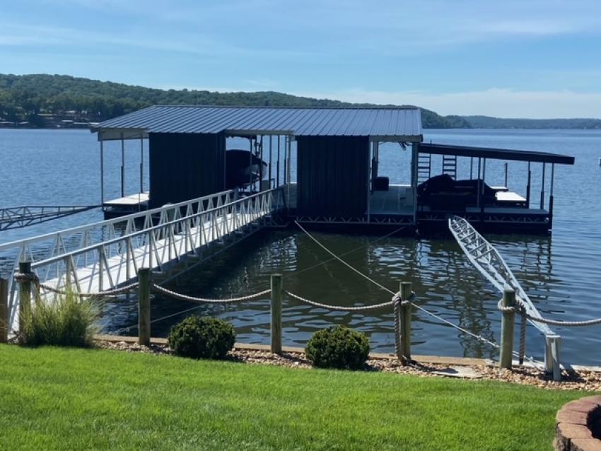
[[53, 300], [35, 299], [22, 318], [18, 340], [24, 346], [92, 346], [98, 331], [96, 306], [69, 290]]

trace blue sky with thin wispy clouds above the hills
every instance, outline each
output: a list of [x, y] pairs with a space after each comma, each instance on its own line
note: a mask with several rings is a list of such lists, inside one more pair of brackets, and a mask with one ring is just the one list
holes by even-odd
[[0, 73], [601, 118], [601, 1], [0, 0]]

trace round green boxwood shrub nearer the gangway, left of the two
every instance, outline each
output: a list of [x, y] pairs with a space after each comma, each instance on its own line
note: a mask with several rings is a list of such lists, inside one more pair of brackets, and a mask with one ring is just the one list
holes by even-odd
[[224, 358], [234, 342], [230, 323], [196, 315], [175, 324], [168, 336], [169, 347], [178, 356], [191, 358]]

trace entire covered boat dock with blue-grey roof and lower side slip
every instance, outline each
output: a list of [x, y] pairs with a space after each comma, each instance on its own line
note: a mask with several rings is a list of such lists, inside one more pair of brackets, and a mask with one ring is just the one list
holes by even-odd
[[[481, 228], [541, 232], [552, 228], [555, 165], [574, 162], [545, 152], [424, 144], [416, 107], [154, 106], [92, 131], [101, 172], [105, 142], [120, 141], [123, 153], [124, 141], [140, 140], [142, 149], [148, 140], [149, 192], [141, 169], [140, 192], [126, 195], [124, 165], [121, 198], [106, 201], [103, 185], [105, 210], [117, 214], [231, 188], [242, 196], [284, 189], [288, 218], [301, 223], [414, 231], [446, 228], [453, 213]], [[230, 139], [242, 139], [247, 153], [229, 149]], [[383, 146], [397, 149], [395, 168], [380, 166]], [[248, 163], [233, 168], [240, 156]], [[520, 192], [507, 187], [506, 163], [505, 183], [487, 182], [487, 162], [498, 170], [499, 161], [524, 163]], [[535, 165], [540, 177], [533, 184]], [[235, 187], [228, 186], [231, 170], [241, 171]], [[397, 172], [407, 174], [404, 184], [390, 183]]]

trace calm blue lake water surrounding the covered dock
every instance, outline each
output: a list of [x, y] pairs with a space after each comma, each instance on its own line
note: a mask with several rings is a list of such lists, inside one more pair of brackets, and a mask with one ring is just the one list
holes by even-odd
[[[527, 293], [545, 316], [584, 320], [601, 316], [601, 132], [515, 130], [426, 130], [425, 141], [567, 153], [576, 165], [556, 167], [555, 222], [552, 237], [488, 235]], [[0, 204], [98, 204], [99, 151], [88, 131], [0, 129]], [[105, 148], [106, 197], [119, 197], [120, 145]], [[136, 192], [139, 143], [127, 144], [127, 192]], [[146, 151], [146, 149], [145, 149]], [[382, 175], [391, 182], [408, 182], [409, 152], [387, 145], [380, 150]], [[146, 158], [147, 161], [147, 158]], [[440, 160], [434, 159], [435, 168]], [[549, 167], [545, 191], [549, 192]], [[533, 165], [532, 198], [537, 199], [541, 165]], [[146, 173], [148, 173], [146, 171]], [[434, 172], [436, 173], [436, 172]], [[475, 173], [475, 166], [474, 166]], [[503, 164], [489, 163], [486, 182], [502, 185]], [[469, 177], [469, 160], [459, 177]], [[526, 166], [509, 163], [510, 189], [525, 194]], [[147, 182], [146, 182], [147, 186]], [[545, 205], [546, 206], [546, 205]], [[51, 221], [21, 230], [0, 232], [0, 242], [25, 238], [102, 219], [100, 210]], [[347, 262], [383, 285], [396, 289], [398, 281], [414, 283], [419, 303], [445, 319], [498, 341], [499, 294], [470, 266], [453, 240], [380, 238], [378, 235], [315, 236]], [[390, 298], [363, 281], [301, 233], [257, 235], [205, 266], [180, 278], [178, 291], [219, 297], [252, 293], [269, 286], [269, 274], [284, 274], [285, 288], [325, 303], [379, 303]], [[175, 286], [175, 284], [174, 284]], [[153, 319], [194, 307], [157, 297]], [[391, 312], [370, 316], [325, 310], [287, 302], [284, 306], [284, 344], [303, 346], [310, 334], [329, 324], [347, 324], [366, 332], [376, 351], [392, 351]], [[239, 306], [201, 306], [200, 314], [223, 317], [235, 324], [240, 341], [267, 343], [269, 303], [257, 300]], [[183, 315], [153, 325], [165, 335]], [[119, 299], [105, 306], [108, 331], [135, 324], [135, 299]], [[564, 358], [572, 363], [601, 364], [601, 327], [557, 329], [564, 335]], [[134, 331], [132, 331], [133, 333]], [[542, 358], [542, 338], [529, 327], [527, 350]], [[494, 356], [489, 346], [431, 320], [414, 315], [416, 354]]]

